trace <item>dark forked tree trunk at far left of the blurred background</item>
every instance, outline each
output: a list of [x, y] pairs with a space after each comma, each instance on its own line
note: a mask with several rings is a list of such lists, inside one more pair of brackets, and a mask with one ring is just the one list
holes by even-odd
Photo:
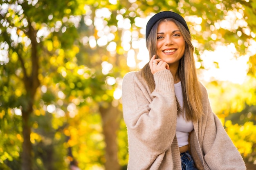
[[22, 157], [21, 157], [21, 169], [22, 170], [33, 170], [33, 148], [30, 141], [31, 134], [31, 123], [30, 116], [33, 113], [33, 105], [34, 105], [34, 97], [36, 94], [37, 88], [40, 86], [40, 82], [38, 79], [38, 54], [37, 54], [37, 46], [36, 42], [36, 30], [34, 30], [33, 26], [31, 26], [29, 22], [29, 30], [27, 31], [27, 35], [31, 40], [31, 75], [27, 74], [27, 70], [25, 68], [25, 62], [22, 59], [22, 53], [18, 52], [18, 58], [20, 60], [22, 71], [23, 71], [23, 83], [26, 89], [26, 102], [24, 106], [22, 106], [22, 134], [23, 134], [23, 143], [22, 143]]

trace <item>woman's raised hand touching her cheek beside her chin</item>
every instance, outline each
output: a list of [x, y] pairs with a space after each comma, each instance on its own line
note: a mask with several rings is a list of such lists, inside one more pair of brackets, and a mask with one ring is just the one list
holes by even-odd
[[156, 55], [153, 55], [153, 57], [151, 58], [151, 60], [149, 62], [149, 67], [150, 67], [152, 74], [155, 74], [157, 71], [170, 69], [169, 65], [166, 62], [164, 62], [160, 58], [155, 59], [155, 57], [156, 57]]

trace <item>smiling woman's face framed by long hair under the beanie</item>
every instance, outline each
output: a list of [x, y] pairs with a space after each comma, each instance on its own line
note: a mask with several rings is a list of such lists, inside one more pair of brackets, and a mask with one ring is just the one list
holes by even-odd
[[179, 65], [185, 51], [185, 40], [173, 21], [162, 21], [157, 27], [157, 55], [171, 65]]

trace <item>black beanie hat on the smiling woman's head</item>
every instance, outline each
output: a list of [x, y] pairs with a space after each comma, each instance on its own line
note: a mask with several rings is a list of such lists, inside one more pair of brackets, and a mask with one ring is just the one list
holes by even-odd
[[186, 30], [189, 31], [189, 27], [187, 26], [186, 21], [184, 20], [184, 18], [182, 18], [182, 16], [172, 11], [162, 11], [155, 14], [152, 18], [150, 18], [150, 20], [148, 20], [146, 26], [146, 40], [154, 24], [163, 18], [173, 18], [174, 20], [180, 22], [186, 28]]

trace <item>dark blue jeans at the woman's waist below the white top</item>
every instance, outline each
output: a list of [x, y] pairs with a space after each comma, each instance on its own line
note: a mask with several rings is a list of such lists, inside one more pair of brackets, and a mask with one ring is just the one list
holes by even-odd
[[197, 170], [189, 151], [180, 154], [182, 170]]

